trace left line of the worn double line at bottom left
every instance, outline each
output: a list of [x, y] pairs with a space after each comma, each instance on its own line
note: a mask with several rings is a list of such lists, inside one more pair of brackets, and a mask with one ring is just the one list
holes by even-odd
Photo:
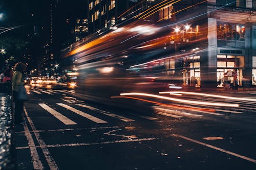
[[35, 142], [33, 140], [33, 137], [31, 135], [31, 133], [29, 132], [29, 128], [28, 128], [27, 124], [25, 123], [23, 125], [23, 127], [24, 127], [24, 130], [25, 130], [25, 136], [28, 140], [28, 145], [29, 145], [28, 148], [30, 150], [33, 167], [34, 167], [34, 169], [44, 169], [44, 166], [42, 165], [42, 162], [41, 162], [41, 160], [38, 156], [38, 153], [36, 151]]

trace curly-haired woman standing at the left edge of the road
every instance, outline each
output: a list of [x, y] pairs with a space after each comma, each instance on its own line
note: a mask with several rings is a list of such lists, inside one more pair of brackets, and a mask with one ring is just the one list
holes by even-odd
[[14, 72], [12, 76], [12, 92], [13, 92], [13, 100], [15, 103], [14, 110], [14, 123], [15, 124], [23, 124], [25, 123], [22, 118], [23, 112], [23, 101], [17, 99], [18, 95], [18, 86], [23, 85], [23, 72], [26, 70], [26, 66], [22, 62], [18, 62], [14, 66]]

